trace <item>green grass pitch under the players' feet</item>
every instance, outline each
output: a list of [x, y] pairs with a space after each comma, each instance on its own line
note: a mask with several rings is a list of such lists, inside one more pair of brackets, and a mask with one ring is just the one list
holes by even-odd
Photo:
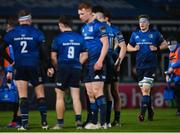
[[[175, 112], [175, 109], [155, 109], [154, 121], [148, 121], [146, 118], [144, 122], [139, 122], [137, 119], [138, 109], [123, 109], [121, 115], [122, 127], [113, 127], [107, 130], [78, 130], [75, 128], [74, 113], [66, 111], [64, 128], [55, 132], [180, 132], [180, 116], [175, 116]], [[82, 117], [85, 120], [85, 111], [83, 111]], [[0, 132], [17, 132], [17, 129], [6, 128], [11, 118], [11, 112], [0, 112]], [[55, 125], [55, 111], [48, 111], [48, 123], [50, 127]], [[51, 131], [54, 130], [47, 130], [47, 132]], [[39, 112], [30, 111], [27, 132], [46, 132], [41, 129]]]

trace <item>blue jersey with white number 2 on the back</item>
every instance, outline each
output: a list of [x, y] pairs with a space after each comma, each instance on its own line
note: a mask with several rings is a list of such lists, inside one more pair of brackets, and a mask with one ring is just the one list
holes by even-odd
[[15, 67], [39, 67], [39, 47], [45, 42], [41, 31], [29, 25], [16, 26], [5, 35], [4, 41], [13, 47]]

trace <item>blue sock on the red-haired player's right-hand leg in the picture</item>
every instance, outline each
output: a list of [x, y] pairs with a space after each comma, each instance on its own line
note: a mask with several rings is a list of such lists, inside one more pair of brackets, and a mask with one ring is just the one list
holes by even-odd
[[96, 99], [96, 103], [98, 105], [98, 108], [100, 109], [100, 123], [101, 126], [106, 123], [106, 112], [107, 112], [107, 107], [106, 107], [106, 99], [105, 96], [102, 95]]

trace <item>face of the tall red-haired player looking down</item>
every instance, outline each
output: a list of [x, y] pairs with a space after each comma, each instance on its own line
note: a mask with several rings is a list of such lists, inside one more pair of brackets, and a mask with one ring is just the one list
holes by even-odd
[[80, 20], [85, 23], [87, 23], [92, 17], [91, 9], [85, 9], [85, 8], [79, 9], [78, 14], [79, 14]]

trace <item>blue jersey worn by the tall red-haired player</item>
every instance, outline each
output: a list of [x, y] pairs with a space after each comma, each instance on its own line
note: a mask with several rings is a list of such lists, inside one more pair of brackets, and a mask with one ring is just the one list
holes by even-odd
[[93, 66], [101, 54], [103, 44], [100, 38], [107, 36], [106, 25], [98, 20], [94, 20], [82, 27], [82, 35], [84, 36], [86, 47], [88, 49], [87, 66]]

